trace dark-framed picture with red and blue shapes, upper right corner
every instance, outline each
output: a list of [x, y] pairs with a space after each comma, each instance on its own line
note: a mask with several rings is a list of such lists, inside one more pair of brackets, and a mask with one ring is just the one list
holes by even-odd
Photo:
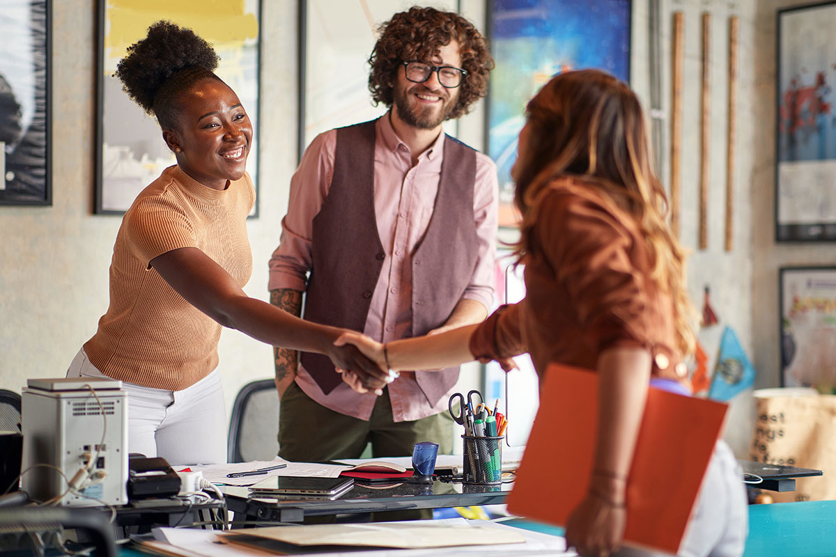
[[777, 13], [775, 240], [836, 240], [836, 3]]

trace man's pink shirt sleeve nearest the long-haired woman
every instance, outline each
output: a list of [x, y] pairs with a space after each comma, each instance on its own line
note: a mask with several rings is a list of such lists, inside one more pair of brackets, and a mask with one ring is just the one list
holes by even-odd
[[476, 183], [473, 186], [473, 219], [476, 221], [479, 255], [462, 300], [476, 300], [490, 311], [493, 306], [497, 254], [497, 212], [499, 186], [497, 166], [486, 155], [477, 153]]

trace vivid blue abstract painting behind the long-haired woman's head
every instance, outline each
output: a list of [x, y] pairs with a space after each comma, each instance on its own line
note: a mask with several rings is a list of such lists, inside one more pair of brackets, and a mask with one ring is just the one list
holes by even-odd
[[485, 124], [499, 172], [499, 225], [516, 226], [511, 167], [525, 106], [555, 74], [601, 68], [630, 80], [630, 0], [488, 0], [493, 58]]

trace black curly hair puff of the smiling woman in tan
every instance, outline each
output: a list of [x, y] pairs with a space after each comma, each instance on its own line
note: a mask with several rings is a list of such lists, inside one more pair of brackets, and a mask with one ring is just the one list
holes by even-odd
[[148, 114], [154, 114], [161, 128], [176, 124], [181, 92], [206, 78], [215, 78], [218, 56], [212, 45], [189, 28], [158, 21], [148, 36], [128, 47], [116, 66], [131, 99]]

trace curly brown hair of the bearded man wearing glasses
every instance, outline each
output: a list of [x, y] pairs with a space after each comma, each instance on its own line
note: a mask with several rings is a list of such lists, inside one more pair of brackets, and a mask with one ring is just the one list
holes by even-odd
[[487, 94], [488, 73], [493, 69], [491, 52], [477, 28], [458, 13], [415, 6], [395, 13], [378, 31], [380, 38], [369, 58], [369, 90], [375, 106], [392, 106], [392, 83], [400, 63], [429, 61], [451, 40], [459, 43], [461, 68], [467, 75], [461, 80], [459, 99], [449, 118], [466, 114], [474, 102]]

